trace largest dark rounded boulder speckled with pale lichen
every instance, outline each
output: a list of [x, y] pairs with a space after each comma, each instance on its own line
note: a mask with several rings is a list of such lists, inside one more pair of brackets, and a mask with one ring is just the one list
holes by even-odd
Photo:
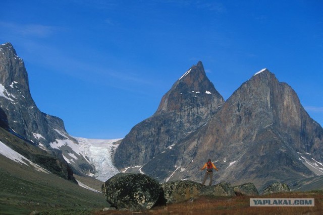
[[159, 198], [160, 185], [143, 174], [119, 173], [103, 183], [102, 193], [118, 209], [150, 209]]

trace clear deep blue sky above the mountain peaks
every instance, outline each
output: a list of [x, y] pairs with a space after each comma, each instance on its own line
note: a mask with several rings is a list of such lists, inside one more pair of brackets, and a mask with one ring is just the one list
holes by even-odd
[[225, 99], [268, 68], [323, 125], [323, 2], [3, 0], [0, 43], [78, 137], [120, 138], [196, 64]]

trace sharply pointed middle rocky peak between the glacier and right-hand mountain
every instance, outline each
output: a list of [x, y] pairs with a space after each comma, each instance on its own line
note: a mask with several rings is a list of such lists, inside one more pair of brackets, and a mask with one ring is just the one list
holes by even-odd
[[113, 155], [115, 166], [152, 174], [148, 170], [151, 161], [206, 125], [223, 103], [223, 97], [207, 79], [202, 62], [198, 62], [163, 96], [157, 111], [122, 139]]

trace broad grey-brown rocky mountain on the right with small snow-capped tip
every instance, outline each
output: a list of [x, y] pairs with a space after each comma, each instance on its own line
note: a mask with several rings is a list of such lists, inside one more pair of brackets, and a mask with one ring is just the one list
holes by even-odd
[[234, 92], [207, 126], [181, 142], [177, 150], [186, 155], [185, 148], [196, 146], [198, 156], [183, 156], [187, 171], [174, 176], [196, 175], [196, 162], [209, 157], [221, 169], [217, 181], [260, 186], [310, 177], [315, 172], [309, 161], [322, 167], [322, 132], [292, 88], [263, 69]]

